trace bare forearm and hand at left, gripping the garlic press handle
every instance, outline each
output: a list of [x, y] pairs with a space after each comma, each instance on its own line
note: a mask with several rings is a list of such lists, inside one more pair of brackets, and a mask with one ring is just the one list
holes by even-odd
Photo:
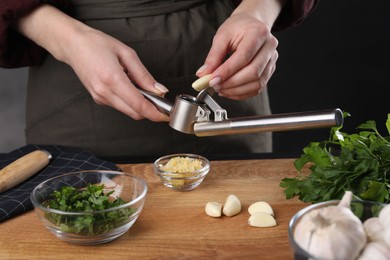
[[135, 120], [169, 120], [132, 81], [157, 95], [164, 95], [168, 89], [153, 78], [127, 45], [50, 5], [42, 5], [20, 19], [17, 28], [70, 65], [97, 104], [111, 106]]

